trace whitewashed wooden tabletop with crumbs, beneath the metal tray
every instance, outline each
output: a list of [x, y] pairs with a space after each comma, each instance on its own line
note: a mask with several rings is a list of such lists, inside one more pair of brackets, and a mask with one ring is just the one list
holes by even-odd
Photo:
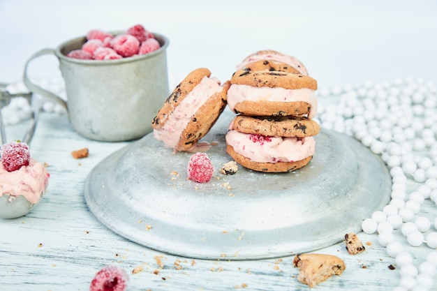
[[[8, 126], [8, 140], [20, 139], [26, 122]], [[106, 264], [124, 267], [128, 290], [309, 290], [297, 281], [293, 257], [269, 260], [198, 260], [168, 255], [119, 237], [96, 220], [84, 201], [84, 181], [93, 167], [128, 142], [94, 142], [73, 131], [64, 115], [42, 113], [31, 142], [31, 155], [47, 163], [51, 174], [47, 193], [34, 211], [21, 218], [0, 220], [0, 290], [89, 290], [96, 272]], [[71, 151], [89, 148], [89, 157], [75, 160]], [[434, 202], [426, 200], [422, 216], [436, 217]], [[401, 234], [395, 234], [401, 236]], [[376, 234], [360, 232], [366, 251], [349, 255], [343, 243], [316, 251], [336, 255], [346, 263], [313, 290], [391, 290], [399, 268]], [[416, 265], [430, 248], [414, 248]], [[142, 271], [132, 274], [133, 269]], [[434, 278], [434, 288], [437, 279]]]

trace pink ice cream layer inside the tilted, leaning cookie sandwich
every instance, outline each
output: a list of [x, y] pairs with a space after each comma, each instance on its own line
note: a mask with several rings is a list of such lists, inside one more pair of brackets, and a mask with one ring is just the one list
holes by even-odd
[[212, 95], [221, 92], [223, 87], [219, 81], [209, 77], [203, 77], [199, 84], [175, 107], [167, 119], [161, 121], [164, 125], [154, 129], [154, 137], [161, 140], [167, 147], [175, 148], [182, 132], [191, 121], [191, 118], [199, 108]]

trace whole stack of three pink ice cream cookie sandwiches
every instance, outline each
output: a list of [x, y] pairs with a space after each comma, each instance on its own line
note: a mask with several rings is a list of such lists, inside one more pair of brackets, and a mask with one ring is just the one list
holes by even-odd
[[294, 57], [276, 51], [251, 54], [230, 79], [227, 100], [237, 116], [226, 134], [226, 151], [260, 172], [291, 172], [307, 165], [320, 131], [317, 81]]

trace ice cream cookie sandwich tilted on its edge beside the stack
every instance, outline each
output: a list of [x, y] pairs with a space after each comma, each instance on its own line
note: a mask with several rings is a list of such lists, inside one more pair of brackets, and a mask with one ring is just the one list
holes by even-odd
[[152, 121], [154, 137], [176, 151], [193, 149], [226, 106], [230, 82], [223, 86], [207, 68], [189, 73], [165, 100]]

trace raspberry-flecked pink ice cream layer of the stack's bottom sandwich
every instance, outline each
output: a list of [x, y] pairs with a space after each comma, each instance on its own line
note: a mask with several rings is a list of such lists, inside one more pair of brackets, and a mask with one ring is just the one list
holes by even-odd
[[256, 163], [296, 162], [313, 156], [316, 151], [314, 137], [270, 137], [251, 135], [230, 130], [226, 143], [241, 156]]

